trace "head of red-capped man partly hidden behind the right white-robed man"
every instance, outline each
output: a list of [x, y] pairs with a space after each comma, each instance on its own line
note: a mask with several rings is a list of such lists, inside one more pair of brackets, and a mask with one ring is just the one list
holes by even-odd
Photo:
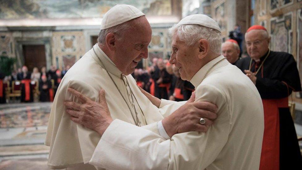
[[233, 65], [241, 59], [240, 55], [240, 48], [238, 42], [233, 39], [228, 39], [226, 42], [222, 43], [221, 45], [222, 55], [226, 57], [226, 60]]

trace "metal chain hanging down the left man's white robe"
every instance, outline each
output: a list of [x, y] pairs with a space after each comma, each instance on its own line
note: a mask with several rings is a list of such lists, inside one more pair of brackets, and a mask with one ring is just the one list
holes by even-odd
[[[134, 112], [135, 112], [136, 119], [134, 118], [133, 113], [132, 113], [132, 111], [131, 111], [131, 109], [130, 109], [130, 106], [129, 106], [128, 102], [126, 101], [126, 99], [124, 98], [124, 96], [123, 96], [121, 90], [120, 90], [119, 87], [116, 85], [116, 83], [114, 82], [112, 76], [109, 74], [108, 70], [106, 69], [105, 64], [102, 62], [102, 60], [99, 58], [99, 56], [98, 56], [97, 53], [95, 52], [94, 47], [92, 47], [92, 48], [93, 48], [94, 54], [95, 54], [95, 55], [97, 56], [97, 58], [100, 60], [100, 62], [101, 62], [101, 64], [102, 64], [103, 68], [106, 70], [108, 76], [109, 76], [110, 79], [112, 80], [112, 82], [113, 82], [113, 84], [115, 85], [116, 89], [119, 91], [119, 94], [122, 96], [122, 98], [124, 99], [125, 103], [127, 104], [128, 109], [129, 109], [129, 111], [130, 111], [130, 113], [131, 113], [131, 116], [132, 116], [132, 119], [134, 120], [135, 125], [136, 125], [136, 126], [140, 126], [140, 123], [139, 123], [139, 120], [138, 120], [138, 116], [137, 116], [137, 111], [136, 111], [135, 104], [134, 104], [134, 100], [133, 100], [133, 96], [132, 96], [132, 90], [131, 90], [130, 85], [129, 85], [129, 83], [128, 83], [127, 77], [123, 75], [123, 76], [126, 78], [127, 85], [128, 85], [128, 87], [129, 87], [129, 89], [130, 89], [130, 94], [131, 94], [131, 98], [132, 98], [132, 104], [133, 104], [133, 107], [134, 107]], [[133, 95], [134, 95], [134, 94], [133, 94]]]

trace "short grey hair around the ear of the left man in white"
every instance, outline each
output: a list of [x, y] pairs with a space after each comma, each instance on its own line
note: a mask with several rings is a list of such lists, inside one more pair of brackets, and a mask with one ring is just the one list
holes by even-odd
[[131, 28], [131, 23], [125, 22], [119, 25], [115, 25], [110, 28], [102, 29], [97, 37], [97, 43], [104, 45], [106, 41], [106, 36], [109, 33], [114, 33], [118, 40], [124, 37], [124, 34]]

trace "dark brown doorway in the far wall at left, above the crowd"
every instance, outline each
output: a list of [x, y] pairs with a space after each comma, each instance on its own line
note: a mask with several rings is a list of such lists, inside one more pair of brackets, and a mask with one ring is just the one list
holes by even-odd
[[28, 71], [32, 72], [34, 67], [41, 71], [42, 67], [46, 67], [46, 56], [44, 45], [23, 45], [24, 65]]

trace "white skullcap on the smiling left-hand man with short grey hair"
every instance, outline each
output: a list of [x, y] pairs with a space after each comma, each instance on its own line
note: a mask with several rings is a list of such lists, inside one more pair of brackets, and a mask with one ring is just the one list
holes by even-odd
[[102, 19], [101, 30], [130, 21], [145, 15], [142, 11], [131, 5], [116, 5], [106, 12]]

